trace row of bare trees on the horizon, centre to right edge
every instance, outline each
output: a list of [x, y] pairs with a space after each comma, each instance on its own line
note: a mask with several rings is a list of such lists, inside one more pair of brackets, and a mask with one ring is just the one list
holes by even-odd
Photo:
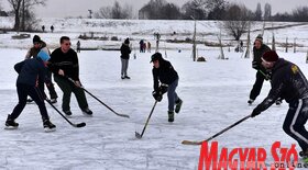
[[[240, 9], [240, 10], [235, 10]], [[237, 18], [230, 18], [234, 16]], [[102, 7], [95, 12], [97, 19], [133, 19], [130, 4], [122, 5], [118, 1], [113, 5]], [[272, 14], [272, 5], [265, 3], [250, 10], [244, 4], [229, 3], [227, 0], [190, 0], [178, 7], [166, 0], [150, 0], [139, 10], [139, 19], [145, 20], [242, 20], [250, 21], [308, 21], [308, 7], [298, 7], [292, 12]]]

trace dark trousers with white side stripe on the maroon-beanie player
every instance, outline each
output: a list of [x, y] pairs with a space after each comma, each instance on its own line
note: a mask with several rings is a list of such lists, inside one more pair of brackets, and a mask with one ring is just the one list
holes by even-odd
[[302, 151], [308, 149], [308, 132], [305, 128], [307, 118], [308, 99], [289, 103], [283, 128], [286, 134], [297, 140]]

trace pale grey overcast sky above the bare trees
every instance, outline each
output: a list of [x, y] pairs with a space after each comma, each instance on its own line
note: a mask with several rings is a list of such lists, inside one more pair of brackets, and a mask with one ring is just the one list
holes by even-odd
[[[112, 5], [116, 0], [47, 0], [46, 7], [36, 8], [38, 18], [65, 18], [65, 16], [87, 16], [88, 10], [97, 11], [105, 5]], [[134, 11], [141, 9], [150, 0], [118, 0], [120, 3], [129, 3]], [[182, 7], [188, 0], [166, 0]], [[245, 4], [249, 9], [255, 10], [257, 2], [261, 3], [262, 9], [268, 2], [272, 4], [272, 13], [290, 12], [293, 9], [307, 5], [308, 0], [228, 0], [229, 2], [240, 2]], [[0, 0], [4, 9], [8, 9], [8, 0]], [[136, 13], [136, 12], [135, 12]]]

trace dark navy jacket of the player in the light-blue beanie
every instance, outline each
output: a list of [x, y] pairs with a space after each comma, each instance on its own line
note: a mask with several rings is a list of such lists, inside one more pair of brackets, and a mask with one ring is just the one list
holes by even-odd
[[18, 63], [14, 69], [19, 73], [16, 84], [36, 87], [36, 82], [38, 82], [38, 87], [43, 91], [44, 82], [51, 83], [51, 80], [46, 77], [47, 68], [41, 58], [36, 57]]

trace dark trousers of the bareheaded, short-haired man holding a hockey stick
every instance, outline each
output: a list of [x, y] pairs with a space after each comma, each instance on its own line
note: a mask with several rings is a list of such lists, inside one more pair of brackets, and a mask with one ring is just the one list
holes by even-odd
[[65, 111], [70, 111], [70, 95], [72, 92], [74, 92], [78, 105], [81, 110], [85, 110], [88, 107], [88, 102], [86, 99], [86, 94], [84, 89], [77, 88], [73, 82], [69, 80], [62, 78], [59, 76], [54, 75], [55, 82], [58, 84], [61, 90], [63, 91], [63, 99], [62, 99], [62, 110]]

